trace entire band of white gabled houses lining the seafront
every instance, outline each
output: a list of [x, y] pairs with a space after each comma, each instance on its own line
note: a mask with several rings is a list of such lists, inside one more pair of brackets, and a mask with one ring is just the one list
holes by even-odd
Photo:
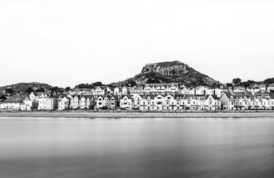
[[[263, 87], [262, 87], [263, 88]], [[8, 110], [270, 110], [273, 94], [240, 88], [186, 88], [178, 84], [142, 87], [97, 86], [50, 96], [47, 92], [7, 97], [0, 94], [0, 109]]]

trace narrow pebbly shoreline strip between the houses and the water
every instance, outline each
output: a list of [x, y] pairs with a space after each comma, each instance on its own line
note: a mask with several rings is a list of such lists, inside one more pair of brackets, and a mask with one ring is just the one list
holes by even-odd
[[189, 112], [136, 112], [136, 111], [12, 111], [0, 112], [1, 117], [51, 117], [51, 118], [274, 118], [274, 110], [264, 111], [189, 111]]

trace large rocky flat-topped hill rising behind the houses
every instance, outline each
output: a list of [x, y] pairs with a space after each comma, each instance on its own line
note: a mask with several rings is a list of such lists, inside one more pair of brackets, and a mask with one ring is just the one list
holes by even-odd
[[173, 82], [184, 84], [186, 86], [216, 86], [221, 84], [219, 81], [208, 77], [208, 75], [195, 71], [195, 69], [183, 62], [173, 61], [147, 64], [142, 68], [141, 73], [135, 77], [126, 79], [125, 81], [112, 83], [112, 85], [130, 86], [132, 83], [143, 85]]

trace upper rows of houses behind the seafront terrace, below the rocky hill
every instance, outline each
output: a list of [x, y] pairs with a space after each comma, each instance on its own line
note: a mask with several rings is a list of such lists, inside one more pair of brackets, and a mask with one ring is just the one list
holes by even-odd
[[217, 97], [221, 97], [223, 92], [252, 92], [253, 94], [258, 92], [271, 92], [274, 91], [274, 84], [269, 85], [266, 88], [265, 85], [249, 86], [247, 88], [242, 86], [235, 86], [234, 89], [221, 86], [221, 88], [208, 88], [206, 86], [199, 86], [196, 88], [188, 88], [184, 85], [179, 86], [176, 83], [171, 84], [145, 84], [145, 86], [131, 87], [115, 87], [110, 86], [96, 86], [93, 89], [80, 89], [75, 88], [69, 90], [69, 94], [84, 94], [84, 95], [115, 95], [121, 96], [126, 94], [214, 94]]

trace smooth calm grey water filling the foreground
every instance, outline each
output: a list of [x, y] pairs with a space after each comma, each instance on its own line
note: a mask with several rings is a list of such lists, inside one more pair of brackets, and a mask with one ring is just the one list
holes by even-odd
[[274, 177], [274, 118], [0, 118], [0, 177]]

